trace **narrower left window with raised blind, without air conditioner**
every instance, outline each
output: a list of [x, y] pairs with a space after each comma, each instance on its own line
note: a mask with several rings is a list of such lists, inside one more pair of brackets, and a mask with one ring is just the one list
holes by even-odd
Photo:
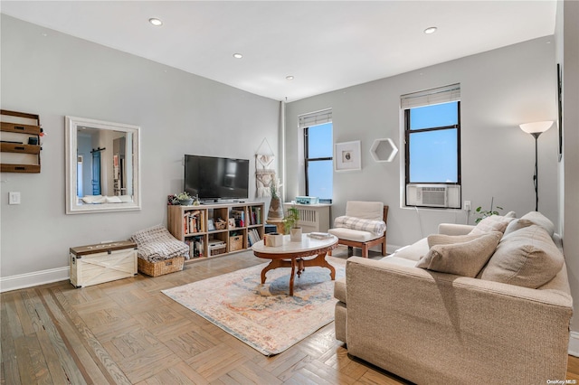
[[326, 109], [299, 117], [304, 134], [306, 195], [321, 202], [332, 201], [333, 127], [332, 110]]

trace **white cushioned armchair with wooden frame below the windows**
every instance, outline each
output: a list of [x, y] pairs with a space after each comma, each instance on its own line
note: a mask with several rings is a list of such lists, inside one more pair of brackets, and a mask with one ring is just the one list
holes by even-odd
[[386, 219], [388, 206], [383, 202], [346, 202], [346, 215], [337, 217], [334, 228], [328, 230], [337, 237], [337, 243], [346, 245], [349, 251], [362, 249], [362, 257], [368, 258], [368, 249], [382, 245], [386, 255]]

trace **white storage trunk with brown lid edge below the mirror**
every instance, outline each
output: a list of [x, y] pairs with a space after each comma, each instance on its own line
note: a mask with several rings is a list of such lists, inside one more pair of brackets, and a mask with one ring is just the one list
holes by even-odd
[[71, 284], [91, 286], [137, 275], [137, 244], [119, 241], [71, 248]]

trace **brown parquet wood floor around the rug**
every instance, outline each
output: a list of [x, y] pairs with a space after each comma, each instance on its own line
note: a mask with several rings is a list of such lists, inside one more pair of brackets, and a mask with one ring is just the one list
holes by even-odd
[[[346, 251], [334, 256], [346, 258]], [[160, 292], [263, 262], [243, 252], [161, 277], [81, 289], [66, 281], [3, 293], [0, 383], [405, 383], [348, 356], [333, 323], [265, 357]], [[579, 380], [578, 358], [569, 358], [567, 378]]]

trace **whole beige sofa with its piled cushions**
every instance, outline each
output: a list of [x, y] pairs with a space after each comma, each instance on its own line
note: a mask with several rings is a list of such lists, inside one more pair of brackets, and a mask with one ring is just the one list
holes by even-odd
[[418, 384], [565, 380], [573, 303], [561, 240], [538, 212], [494, 217], [441, 224], [380, 260], [348, 258], [335, 286], [348, 353]]

